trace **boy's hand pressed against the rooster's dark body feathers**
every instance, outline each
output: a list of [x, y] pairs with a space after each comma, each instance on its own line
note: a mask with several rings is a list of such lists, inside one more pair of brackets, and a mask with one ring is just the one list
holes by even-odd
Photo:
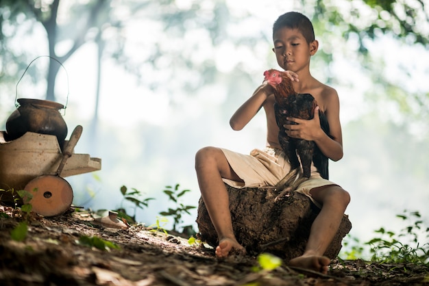
[[315, 108], [315, 116], [310, 120], [293, 117], [289, 117], [287, 120], [295, 122], [295, 124], [283, 125], [286, 129], [286, 134], [291, 138], [314, 141], [319, 138], [319, 134], [323, 132], [320, 127], [319, 106]]

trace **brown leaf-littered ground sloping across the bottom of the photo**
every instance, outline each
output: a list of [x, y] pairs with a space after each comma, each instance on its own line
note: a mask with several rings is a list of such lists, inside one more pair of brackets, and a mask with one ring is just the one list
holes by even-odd
[[[286, 265], [255, 271], [256, 257], [218, 260], [205, 244], [144, 225], [104, 228], [90, 211], [42, 218], [0, 206], [0, 214], [0, 285], [429, 285], [421, 265], [334, 260], [328, 275]], [[23, 220], [27, 236], [17, 242], [11, 231]], [[101, 246], [82, 237], [98, 237]], [[103, 242], [119, 248], [101, 250]]]

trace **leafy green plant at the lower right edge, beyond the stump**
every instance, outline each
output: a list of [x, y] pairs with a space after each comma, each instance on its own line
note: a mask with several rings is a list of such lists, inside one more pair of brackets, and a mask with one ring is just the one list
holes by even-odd
[[366, 243], [370, 246], [371, 260], [384, 263], [428, 264], [429, 242], [421, 244], [419, 239], [425, 233], [426, 239], [428, 239], [429, 228], [424, 229], [422, 227], [423, 221], [420, 213], [405, 210], [404, 214], [396, 217], [408, 222], [408, 226], [402, 229], [400, 233], [387, 231], [383, 227], [378, 229], [376, 233], [380, 237], [373, 238]]

